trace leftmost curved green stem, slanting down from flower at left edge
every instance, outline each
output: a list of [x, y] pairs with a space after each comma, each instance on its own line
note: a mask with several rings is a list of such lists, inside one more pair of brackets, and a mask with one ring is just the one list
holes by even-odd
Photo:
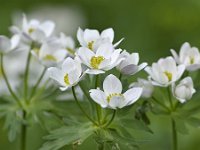
[[10, 83], [9, 83], [9, 81], [8, 81], [8, 78], [7, 78], [7, 76], [6, 76], [6, 73], [5, 73], [5, 70], [4, 70], [4, 64], [3, 64], [3, 54], [1, 54], [1, 72], [2, 72], [3, 78], [4, 78], [5, 82], [6, 82], [6, 85], [7, 85], [7, 87], [8, 87], [8, 90], [9, 90], [10, 94], [11, 94], [12, 97], [16, 100], [17, 104], [18, 104], [20, 107], [22, 107], [22, 104], [21, 104], [21, 102], [20, 102], [20, 99], [17, 97], [17, 95], [16, 95], [16, 94], [14, 93], [14, 91], [12, 90], [11, 85], [10, 85]]

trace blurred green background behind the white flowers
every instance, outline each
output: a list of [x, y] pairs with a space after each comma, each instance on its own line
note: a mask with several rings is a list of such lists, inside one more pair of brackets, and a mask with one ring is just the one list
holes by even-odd
[[[48, 14], [54, 8], [69, 9], [63, 11], [60, 17], [67, 16], [66, 20], [61, 18], [66, 24], [74, 23], [72, 28], [66, 25], [68, 29], [65, 30], [74, 37], [78, 26], [98, 30], [112, 27], [116, 41], [121, 37], [125, 38], [121, 48], [139, 52], [141, 60], [149, 63], [171, 55], [171, 48], [179, 50], [186, 41], [200, 47], [199, 0], [1, 0], [0, 34], [9, 35], [8, 27], [12, 25], [12, 18], [16, 13], [39, 14], [39, 10], [45, 9]], [[73, 13], [76, 14], [75, 17]], [[45, 17], [44, 13], [41, 15]], [[136, 138], [142, 141], [141, 149], [169, 150], [169, 119], [149, 115], [154, 134], [136, 132]], [[0, 150], [17, 150], [19, 141], [9, 143], [6, 132], [1, 130], [2, 124], [3, 121], [0, 122]], [[37, 150], [44, 134], [40, 127], [30, 128], [28, 150]], [[189, 135], [178, 136], [180, 150], [200, 150], [200, 129], [191, 129]], [[84, 147], [89, 149], [87, 144]]]

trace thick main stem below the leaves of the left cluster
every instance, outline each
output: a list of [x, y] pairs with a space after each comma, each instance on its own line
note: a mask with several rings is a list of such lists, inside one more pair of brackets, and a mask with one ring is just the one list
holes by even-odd
[[[23, 118], [26, 119], [26, 112], [23, 111]], [[27, 127], [25, 124], [22, 124], [21, 128], [21, 150], [26, 150], [26, 134], [27, 134]]]

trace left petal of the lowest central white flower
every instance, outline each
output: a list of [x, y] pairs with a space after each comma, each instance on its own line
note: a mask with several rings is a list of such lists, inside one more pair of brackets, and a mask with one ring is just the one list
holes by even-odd
[[90, 97], [101, 107], [105, 108], [108, 106], [108, 103], [106, 101], [106, 95], [103, 91], [99, 89], [91, 89], [90, 91]]

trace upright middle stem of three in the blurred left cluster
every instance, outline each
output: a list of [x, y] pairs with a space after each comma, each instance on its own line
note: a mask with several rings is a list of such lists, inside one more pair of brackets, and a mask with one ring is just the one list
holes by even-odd
[[31, 61], [31, 52], [29, 51], [27, 61], [26, 61], [26, 68], [24, 72], [24, 98], [25, 100], [27, 100], [27, 94], [28, 94], [28, 75], [29, 75], [30, 61]]

